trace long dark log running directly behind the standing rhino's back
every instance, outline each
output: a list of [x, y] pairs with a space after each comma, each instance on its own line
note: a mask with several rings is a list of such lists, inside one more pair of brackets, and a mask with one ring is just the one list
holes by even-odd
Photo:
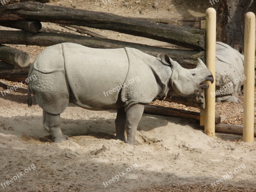
[[129, 43], [112, 39], [88, 37], [71, 34], [58, 34], [48, 32], [28, 33], [26, 31], [0, 31], [0, 44], [23, 44], [51, 46], [54, 44], [70, 42], [92, 48], [124, 48], [133, 47], [142, 52], [156, 56], [158, 53], [167, 53], [173, 60], [176, 60], [184, 68], [195, 68], [197, 58], [204, 60], [204, 51], [177, 50], [154, 47], [143, 44]]

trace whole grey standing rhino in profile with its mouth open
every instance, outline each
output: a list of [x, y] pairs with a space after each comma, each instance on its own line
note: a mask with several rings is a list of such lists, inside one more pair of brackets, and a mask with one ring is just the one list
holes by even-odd
[[72, 43], [41, 52], [30, 68], [29, 76], [33, 75], [36, 80], [28, 85], [28, 105], [32, 92], [43, 108], [43, 125], [54, 142], [67, 138], [60, 130], [60, 114], [69, 101], [90, 110], [118, 108], [116, 139], [125, 141], [126, 130], [126, 142], [135, 145], [145, 104], [169, 94], [189, 95], [207, 89], [204, 81], [213, 83], [201, 60], [195, 69], [185, 69], [167, 54], [156, 58], [133, 48], [93, 49]]

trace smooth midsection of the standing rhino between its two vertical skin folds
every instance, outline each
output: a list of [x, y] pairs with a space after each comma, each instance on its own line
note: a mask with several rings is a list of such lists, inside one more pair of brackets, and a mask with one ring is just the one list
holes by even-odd
[[120, 107], [122, 84], [129, 68], [125, 50], [62, 45], [70, 100], [90, 110]]

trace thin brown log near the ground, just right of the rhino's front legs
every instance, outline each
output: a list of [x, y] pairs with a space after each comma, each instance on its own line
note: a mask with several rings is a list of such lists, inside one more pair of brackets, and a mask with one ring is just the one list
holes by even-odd
[[[181, 118], [195, 119], [197, 121], [200, 121], [200, 113], [198, 112], [185, 111], [185, 110], [169, 108], [169, 107], [145, 105], [144, 113], [149, 113], [154, 115], [163, 115], [163, 116], [172, 116], [172, 117], [181, 117]], [[221, 117], [216, 115], [215, 123], [219, 124], [220, 122], [221, 122]]]

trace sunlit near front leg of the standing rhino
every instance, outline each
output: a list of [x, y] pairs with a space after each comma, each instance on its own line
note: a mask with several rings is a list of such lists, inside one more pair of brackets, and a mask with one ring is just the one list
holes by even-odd
[[127, 133], [126, 143], [137, 145], [135, 136], [136, 136], [137, 127], [142, 117], [143, 111], [144, 111], [144, 105], [142, 104], [132, 105], [126, 111], [126, 124], [125, 124], [125, 130]]

